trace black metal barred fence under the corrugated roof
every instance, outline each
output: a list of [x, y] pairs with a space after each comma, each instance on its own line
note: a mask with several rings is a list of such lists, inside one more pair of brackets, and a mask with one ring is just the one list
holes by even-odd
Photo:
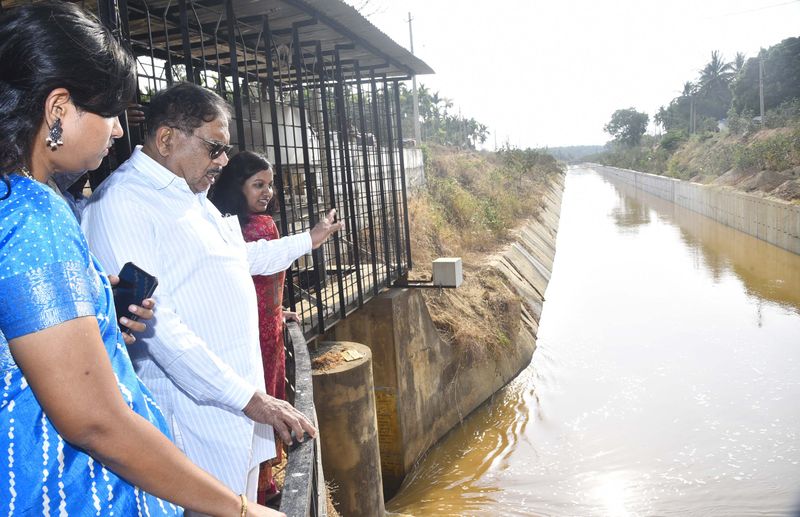
[[137, 56], [142, 104], [181, 80], [228, 99], [232, 143], [275, 166], [283, 235], [331, 208], [345, 221], [287, 274], [286, 301], [311, 339], [405, 275], [411, 257], [398, 109], [405, 77], [343, 55], [358, 43], [332, 42], [333, 29], [303, 5], [120, 0], [101, 13]]

